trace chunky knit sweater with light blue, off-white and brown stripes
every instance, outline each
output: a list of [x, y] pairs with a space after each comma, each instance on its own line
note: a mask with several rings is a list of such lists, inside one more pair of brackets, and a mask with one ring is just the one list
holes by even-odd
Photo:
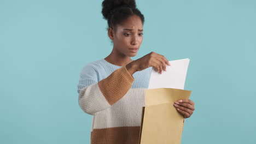
[[105, 59], [83, 67], [79, 106], [92, 115], [91, 143], [138, 143], [145, 90], [152, 67], [131, 75]]

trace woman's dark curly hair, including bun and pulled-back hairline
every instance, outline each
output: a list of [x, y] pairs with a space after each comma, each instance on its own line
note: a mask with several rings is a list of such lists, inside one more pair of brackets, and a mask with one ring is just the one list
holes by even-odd
[[144, 16], [136, 8], [135, 0], [104, 0], [101, 13], [108, 21], [108, 27], [114, 28], [132, 15], [139, 16], [144, 25]]

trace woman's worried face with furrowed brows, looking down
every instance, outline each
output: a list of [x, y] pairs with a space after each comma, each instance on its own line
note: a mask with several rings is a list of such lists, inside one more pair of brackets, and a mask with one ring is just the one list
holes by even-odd
[[[112, 32], [110, 32], [112, 31]], [[128, 17], [121, 25], [109, 30], [109, 37], [113, 40], [114, 52], [120, 56], [134, 57], [143, 40], [143, 25], [137, 15]]]

